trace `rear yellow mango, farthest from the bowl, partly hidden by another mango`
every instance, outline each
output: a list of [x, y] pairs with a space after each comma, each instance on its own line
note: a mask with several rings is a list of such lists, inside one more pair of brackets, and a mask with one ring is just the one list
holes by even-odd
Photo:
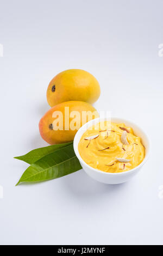
[[53, 107], [65, 101], [94, 103], [101, 93], [99, 83], [89, 72], [81, 69], [62, 71], [49, 83], [48, 104]]

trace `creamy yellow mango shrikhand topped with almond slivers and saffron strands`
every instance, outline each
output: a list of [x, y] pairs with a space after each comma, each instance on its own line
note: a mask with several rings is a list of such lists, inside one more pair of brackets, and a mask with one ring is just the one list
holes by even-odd
[[109, 121], [89, 127], [80, 139], [78, 150], [89, 166], [109, 173], [133, 169], [145, 157], [145, 147], [133, 129]]

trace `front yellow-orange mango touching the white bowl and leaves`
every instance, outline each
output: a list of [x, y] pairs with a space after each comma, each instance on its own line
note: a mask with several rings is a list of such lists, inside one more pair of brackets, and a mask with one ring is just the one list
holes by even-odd
[[51, 145], [70, 142], [82, 125], [98, 117], [96, 109], [87, 102], [62, 102], [43, 115], [39, 123], [40, 135]]

